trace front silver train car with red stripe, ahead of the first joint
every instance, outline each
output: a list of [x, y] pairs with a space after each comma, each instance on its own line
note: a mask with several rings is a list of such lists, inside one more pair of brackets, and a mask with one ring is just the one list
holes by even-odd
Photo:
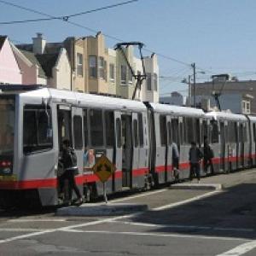
[[85, 197], [102, 195], [91, 167], [105, 154], [115, 166], [107, 192], [144, 188], [148, 117], [142, 102], [40, 86], [0, 86], [0, 201], [58, 204], [61, 143], [78, 156]]

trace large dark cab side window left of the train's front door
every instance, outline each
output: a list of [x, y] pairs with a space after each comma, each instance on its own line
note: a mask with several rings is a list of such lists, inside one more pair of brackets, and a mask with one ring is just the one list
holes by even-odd
[[50, 109], [44, 106], [24, 107], [23, 115], [23, 152], [46, 150], [53, 147]]

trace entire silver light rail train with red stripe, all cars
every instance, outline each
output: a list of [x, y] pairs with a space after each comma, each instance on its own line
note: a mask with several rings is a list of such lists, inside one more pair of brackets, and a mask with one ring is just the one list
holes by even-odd
[[[0, 90], [0, 207], [60, 204], [58, 160], [65, 139], [77, 154], [76, 182], [84, 201], [103, 194], [91, 169], [102, 154], [115, 166], [108, 194], [189, 178], [190, 143], [202, 147], [204, 137], [214, 151], [216, 173], [256, 165], [253, 116], [41, 85], [0, 85]], [[172, 143], [180, 154], [178, 172]]]

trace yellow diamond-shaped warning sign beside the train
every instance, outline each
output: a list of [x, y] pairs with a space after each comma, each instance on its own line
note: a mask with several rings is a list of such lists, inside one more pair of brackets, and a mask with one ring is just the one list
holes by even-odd
[[96, 161], [96, 164], [92, 167], [92, 171], [102, 181], [102, 183], [104, 183], [113, 174], [114, 166], [112, 162], [108, 160], [108, 157], [102, 154], [99, 160]]

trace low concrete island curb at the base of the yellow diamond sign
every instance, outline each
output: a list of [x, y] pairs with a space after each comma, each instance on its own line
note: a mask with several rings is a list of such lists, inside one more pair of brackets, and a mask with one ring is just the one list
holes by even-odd
[[148, 205], [142, 204], [83, 204], [79, 207], [63, 207], [55, 212], [57, 216], [113, 216], [147, 211]]

